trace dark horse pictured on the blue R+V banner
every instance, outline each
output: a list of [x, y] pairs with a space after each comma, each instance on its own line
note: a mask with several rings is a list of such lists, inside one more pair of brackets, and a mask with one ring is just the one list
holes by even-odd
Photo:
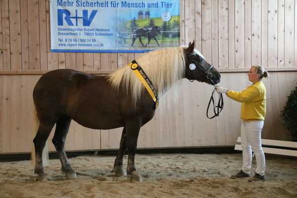
[[[157, 42], [158, 46], [160, 46], [156, 39], [156, 36], [160, 33], [161, 33], [160, 27], [156, 25], [152, 26], [151, 28], [137, 28], [136, 30], [133, 31], [131, 47], [133, 47], [134, 42], [137, 38], [139, 39], [143, 47], [147, 47], [151, 39], [154, 39]], [[142, 43], [141, 37], [148, 37], [148, 43], [146, 45]]]

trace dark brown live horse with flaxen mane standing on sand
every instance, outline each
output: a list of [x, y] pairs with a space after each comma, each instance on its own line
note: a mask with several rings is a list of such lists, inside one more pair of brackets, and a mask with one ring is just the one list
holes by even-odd
[[[159, 96], [179, 79], [187, 78], [210, 85], [220, 82], [220, 73], [195, 49], [195, 43], [178, 48], [150, 51], [135, 59]], [[154, 116], [156, 103], [133, 72], [131, 64], [105, 76], [72, 69], [58, 69], [44, 74], [33, 90], [39, 128], [33, 140], [37, 181], [44, 181], [43, 149], [56, 124], [52, 143], [67, 179], [76, 172], [65, 153], [65, 140], [71, 120], [92, 129], [124, 127], [119, 151], [114, 161], [116, 176], [142, 181], [136, 171], [135, 153], [140, 128]], [[123, 156], [128, 151], [127, 173]], [[34, 154], [34, 153], [32, 153]]]

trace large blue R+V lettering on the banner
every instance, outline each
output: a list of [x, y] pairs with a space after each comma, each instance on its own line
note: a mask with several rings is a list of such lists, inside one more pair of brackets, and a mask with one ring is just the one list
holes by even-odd
[[75, 26], [78, 25], [78, 19], [83, 19], [83, 26], [90, 26], [98, 10], [92, 10], [90, 16], [88, 10], [83, 10], [83, 16], [77, 15], [77, 9], [75, 10], [75, 16], [70, 16], [70, 11], [67, 9], [58, 9], [58, 25], [63, 25], [63, 19], [65, 19], [67, 25], [74, 26], [71, 19], [75, 19]]

